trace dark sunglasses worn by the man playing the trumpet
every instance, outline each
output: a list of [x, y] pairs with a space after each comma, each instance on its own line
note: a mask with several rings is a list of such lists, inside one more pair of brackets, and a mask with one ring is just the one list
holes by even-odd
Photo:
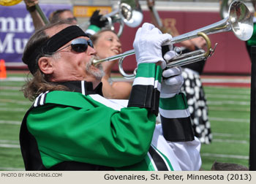
[[64, 50], [64, 48], [67, 48], [69, 46], [71, 46], [71, 49], [74, 50], [76, 53], [83, 53], [86, 52], [88, 45], [90, 47], [94, 47], [94, 45], [91, 42], [91, 39], [86, 40], [86, 39], [74, 39], [72, 40], [70, 45], [67, 45], [66, 47], [61, 48], [60, 50], [56, 50], [54, 53], [57, 53], [61, 50]]

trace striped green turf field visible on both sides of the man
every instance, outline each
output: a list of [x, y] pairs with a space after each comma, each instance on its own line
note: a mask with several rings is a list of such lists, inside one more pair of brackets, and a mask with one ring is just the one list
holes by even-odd
[[[9, 74], [7, 79], [15, 81], [0, 80], [0, 170], [24, 170], [18, 134], [32, 103], [19, 91], [25, 76]], [[202, 169], [210, 170], [214, 161], [248, 166], [250, 89], [206, 86], [205, 91], [214, 139], [201, 147]]]

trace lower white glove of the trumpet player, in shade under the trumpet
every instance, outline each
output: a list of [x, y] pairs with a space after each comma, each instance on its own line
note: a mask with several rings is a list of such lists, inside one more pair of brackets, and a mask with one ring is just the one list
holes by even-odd
[[167, 79], [162, 81], [160, 98], [171, 98], [175, 96], [184, 83], [181, 75], [181, 67], [172, 67], [162, 72], [162, 77]]

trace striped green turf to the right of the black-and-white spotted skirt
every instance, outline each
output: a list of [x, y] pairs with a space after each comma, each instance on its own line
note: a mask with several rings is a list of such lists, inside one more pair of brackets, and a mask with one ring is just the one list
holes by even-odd
[[249, 88], [205, 87], [213, 132], [211, 145], [202, 145], [203, 169], [216, 160], [249, 164]]

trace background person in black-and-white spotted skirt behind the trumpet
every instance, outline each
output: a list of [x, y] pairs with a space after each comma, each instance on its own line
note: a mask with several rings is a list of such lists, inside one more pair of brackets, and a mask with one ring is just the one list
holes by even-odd
[[[163, 33], [169, 33], [173, 37], [179, 35], [176, 26], [173, 24], [170, 28], [162, 25], [157, 11], [154, 9], [154, 0], [147, 0], [148, 9], [151, 14], [152, 23], [157, 26]], [[197, 50], [206, 45], [206, 41], [197, 37], [195, 39], [180, 42], [183, 47], [182, 53], [187, 53], [192, 50]], [[181, 48], [182, 48], [181, 47]], [[193, 64], [182, 66], [182, 76], [184, 77], [184, 84], [181, 88], [187, 96], [187, 104], [192, 118], [192, 126], [195, 137], [200, 139], [201, 143], [209, 144], [212, 140], [211, 123], [208, 120], [208, 106], [206, 103], [206, 96], [203, 91], [203, 85], [200, 80], [200, 74], [203, 73], [203, 67], [206, 61], [199, 61]]]

